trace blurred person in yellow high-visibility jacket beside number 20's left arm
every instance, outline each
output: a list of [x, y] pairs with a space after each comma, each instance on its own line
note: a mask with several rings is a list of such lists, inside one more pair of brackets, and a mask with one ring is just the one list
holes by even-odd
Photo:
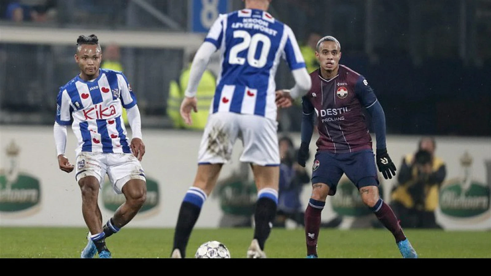
[[186, 128], [194, 130], [203, 130], [208, 120], [208, 114], [210, 105], [215, 95], [215, 87], [217, 85], [215, 75], [208, 69], [203, 73], [203, 77], [198, 84], [197, 100], [198, 100], [198, 112], [191, 112], [192, 124], [187, 125], [184, 123], [181, 114], [180, 107], [184, 98], [184, 91], [188, 86], [189, 75], [191, 72], [191, 63], [194, 57], [193, 53], [190, 55], [189, 63], [179, 76], [179, 80], [171, 81], [169, 87], [169, 97], [167, 100], [167, 115], [172, 119], [174, 128]]

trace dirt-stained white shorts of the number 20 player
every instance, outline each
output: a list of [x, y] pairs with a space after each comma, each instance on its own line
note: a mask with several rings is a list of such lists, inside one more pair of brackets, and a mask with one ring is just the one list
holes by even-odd
[[239, 138], [244, 146], [241, 162], [279, 166], [277, 129], [276, 121], [262, 116], [233, 112], [210, 114], [199, 146], [198, 164], [229, 162]]

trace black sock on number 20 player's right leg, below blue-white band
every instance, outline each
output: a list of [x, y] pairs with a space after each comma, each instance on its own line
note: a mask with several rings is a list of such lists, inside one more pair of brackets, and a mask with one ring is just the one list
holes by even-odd
[[276, 215], [276, 203], [269, 197], [260, 197], [256, 202], [254, 211], [254, 239], [257, 239], [259, 247], [264, 250], [264, 244], [270, 236], [271, 225]]

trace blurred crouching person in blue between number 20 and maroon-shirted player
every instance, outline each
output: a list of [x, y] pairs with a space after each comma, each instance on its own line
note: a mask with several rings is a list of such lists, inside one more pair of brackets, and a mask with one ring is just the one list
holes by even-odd
[[289, 137], [280, 138], [280, 171], [278, 207], [276, 218], [273, 223], [275, 227], [285, 227], [286, 220], [295, 221], [297, 225], [304, 226], [305, 206], [301, 203], [300, 195], [303, 185], [310, 183], [310, 176], [304, 167], [297, 163], [297, 150]]

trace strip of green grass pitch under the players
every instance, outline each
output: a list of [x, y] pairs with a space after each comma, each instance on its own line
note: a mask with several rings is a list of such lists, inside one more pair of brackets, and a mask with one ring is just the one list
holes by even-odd
[[[203, 242], [218, 240], [232, 258], [245, 258], [252, 228], [196, 228], [187, 257]], [[420, 258], [491, 258], [490, 231], [407, 229], [406, 236]], [[113, 258], [169, 258], [174, 230], [123, 228], [106, 240]], [[79, 227], [0, 227], [0, 258], [79, 258], [86, 229]], [[273, 228], [266, 243], [268, 258], [305, 258], [303, 229]], [[401, 258], [393, 236], [385, 229], [321, 229], [320, 258]], [[97, 256], [96, 256], [97, 258]]]

